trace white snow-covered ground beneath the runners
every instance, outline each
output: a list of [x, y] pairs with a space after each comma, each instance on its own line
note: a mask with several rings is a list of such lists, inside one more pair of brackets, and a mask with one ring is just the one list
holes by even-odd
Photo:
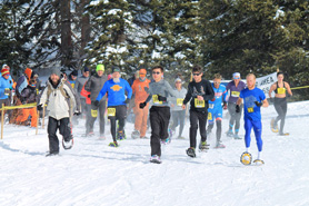
[[[288, 107], [290, 136], [285, 137], [269, 129], [273, 106], [262, 109], [263, 166], [240, 164], [243, 139], [225, 135], [226, 149], [213, 148], [212, 134], [208, 153], [188, 157], [189, 122], [185, 140], [163, 146], [161, 165], [149, 163], [149, 139], [128, 138], [119, 148], [110, 148], [109, 133], [107, 140], [80, 136], [83, 120], [73, 128], [73, 148], [61, 148], [56, 157], [44, 156], [46, 129], [36, 135], [36, 129], [6, 125], [0, 141], [0, 205], [309, 205], [309, 101]], [[227, 128], [225, 119], [223, 131]], [[132, 129], [127, 124], [127, 134]], [[255, 159], [255, 138], [250, 153]]]

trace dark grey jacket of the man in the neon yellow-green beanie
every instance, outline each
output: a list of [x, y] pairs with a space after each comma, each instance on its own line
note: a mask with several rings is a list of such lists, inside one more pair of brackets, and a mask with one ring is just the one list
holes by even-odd
[[[84, 89], [87, 91], [90, 91], [91, 101], [96, 101], [100, 90], [103, 88], [103, 85], [107, 80], [108, 80], [108, 78], [106, 75], [102, 75], [101, 77], [99, 77], [98, 73], [94, 73], [86, 82]], [[101, 101], [104, 101], [104, 100], [107, 100], [106, 96], [101, 99]]]

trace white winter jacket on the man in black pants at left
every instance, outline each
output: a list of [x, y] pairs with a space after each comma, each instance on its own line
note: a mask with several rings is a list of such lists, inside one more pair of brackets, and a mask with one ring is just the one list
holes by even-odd
[[[62, 90], [61, 90], [62, 88]], [[48, 96], [50, 89], [50, 95]], [[68, 97], [64, 97], [64, 95]], [[54, 86], [49, 79], [47, 81], [47, 87], [40, 94], [38, 105], [43, 105], [48, 101], [47, 110], [49, 111], [49, 116], [60, 120], [66, 117], [70, 117], [70, 108], [73, 108], [72, 111], [81, 111], [80, 99], [72, 89], [71, 85], [63, 79], [59, 80], [59, 84]]]

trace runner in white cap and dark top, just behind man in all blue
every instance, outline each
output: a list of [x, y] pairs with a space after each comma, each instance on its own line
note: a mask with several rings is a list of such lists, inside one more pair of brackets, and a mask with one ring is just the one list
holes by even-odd
[[[235, 72], [232, 75], [232, 81], [227, 85], [227, 92], [229, 94], [228, 98], [228, 110], [230, 114], [230, 124], [229, 130], [227, 133], [228, 137], [233, 137], [235, 139], [241, 139], [238, 135], [240, 128], [240, 117], [242, 112], [242, 105], [240, 105], [240, 112], [236, 112], [236, 101], [239, 97], [239, 94], [242, 89], [246, 88], [246, 84], [240, 80], [240, 73]], [[235, 134], [232, 128], [235, 127]]]

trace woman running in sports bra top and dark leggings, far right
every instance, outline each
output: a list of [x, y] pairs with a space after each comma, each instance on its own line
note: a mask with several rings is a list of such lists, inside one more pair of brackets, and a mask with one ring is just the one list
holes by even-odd
[[287, 91], [290, 96], [292, 96], [291, 88], [288, 82], [283, 81], [285, 75], [283, 72], [278, 72], [277, 73], [277, 79], [278, 81], [275, 82], [270, 89], [269, 89], [269, 98], [271, 98], [271, 92], [275, 91], [275, 109], [278, 112], [278, 117], [275, 119], [271, 119], [270, 127], [273, 133], [278, 133], [278, 121], [280, 121], [280, 136], [289, 135], [288, 133], [283, 133], [283, 127], [286, 122], [286, 115], [287, 115], [287, 109], [288, 109], [288, 104], [287, 104]]

